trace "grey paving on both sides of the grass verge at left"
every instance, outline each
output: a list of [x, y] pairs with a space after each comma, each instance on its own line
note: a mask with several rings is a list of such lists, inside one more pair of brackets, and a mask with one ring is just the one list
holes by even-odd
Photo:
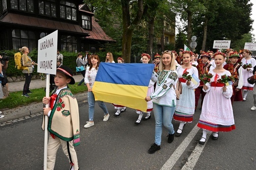
[[[79, 74], [79, 75], [74, 75], [73, 78], [75, 79], [75, 82], [80, 82], [83, 76]], [[25, 83], [24, 81], [8, 83], [9, 92], [22, 91], [24, 83]], [[30, 83], [30, 89], [45, 88], [45, 86], [46, 86], [46, 81], [42, 81], [40, 79], [32, 80]], [[77, 102], [82, 102], [84, 100], [87, 100], [87, 92], [75, 94], [75, 97], [77, 99]], [[11, 122], [19, 121], [21, 120], [21, 118], [24, 118], [24, 117], [28, 118], [29, 116], [33, 117], [33, 115], [36, 116], [36, 115], [42, 114], [43, 104], [41, 102], [32, 103], [29, 106], [22, 106], [22, 107], [17, 107], [17, 108], [8, 109], [8, 110], [0, 110], [0, 111], [4, 115], [4, 117], [0, 119], [0, 126], [1, 126]]]

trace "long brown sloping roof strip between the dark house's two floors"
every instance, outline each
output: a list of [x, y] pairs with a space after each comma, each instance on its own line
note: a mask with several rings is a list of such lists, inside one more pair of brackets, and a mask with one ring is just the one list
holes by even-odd
[[63, 31], [83, 34], [83, 36], [88, 36], [89, 31], [83, 29], [79, 25], [74, 25], [70, 23], [64, 23], [60, 21], [52, 21], [42, 18], [36, 18], [31, 16], [24, 16], [19, 14], [8, 13], [2, 19], [0, 19], [2, 23], [8, 24], [18, 24], [24, 25], [28, 27], [35, 28], [50, 28], [50, 29], [59, 29]]

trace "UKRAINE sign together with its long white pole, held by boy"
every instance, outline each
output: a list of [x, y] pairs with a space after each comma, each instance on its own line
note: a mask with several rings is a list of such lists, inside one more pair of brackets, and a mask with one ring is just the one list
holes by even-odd
[[[46, 97], [50, 93], [50, 74], [56, 74], [58, 30], [38, 40], [37, 72], [46, 73]], [[49, 104], [45, 105], [49, 108]], [[44, 160], [43, 170], [47, 169], [48, 115], [44, 117]]]

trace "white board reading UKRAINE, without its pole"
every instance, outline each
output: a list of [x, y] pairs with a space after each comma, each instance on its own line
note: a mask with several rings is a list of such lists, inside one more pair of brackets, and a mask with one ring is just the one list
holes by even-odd
[[58, 30], [38, 40], [37, 72], [56, 74]]

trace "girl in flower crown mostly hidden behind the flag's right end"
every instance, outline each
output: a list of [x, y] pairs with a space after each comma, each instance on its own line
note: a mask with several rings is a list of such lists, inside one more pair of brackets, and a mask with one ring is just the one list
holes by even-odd
[[[141, 59], [142, 59], [142, 63], [143, 64], [147, 64], [147, 63], [149, 63], [150, 56], [148, 54], [146, 54], [146, 53], [143, 53], [141, 55]], [[154, 93], [154, 84], [155, 83], [152, 80], [150, 80], [149, 86], [148, 86], [147, 96], [149, 96], [151, 93]], [[153, 103], [152, 103], [152, 101], [148, 101], [147, 105], [148, 105], [148, 107], [147, 107], [147, 115], [146, 115], [146, 117], [143, 118], [143, 120], [150, 119], [151, 118], [150, 113], [151, 113], [151, 111], [153, 111]], [[139, 114], [139, 117], [138, 117], [138, 119], [134, 123], [135, 124], [140, 124], [140, 121], [141, 121], [141, 118], [143, 116], [143, 113], [142, 113], [142, 111], [139, 111], [139, 110], [136, 110], [136, 113]]]

